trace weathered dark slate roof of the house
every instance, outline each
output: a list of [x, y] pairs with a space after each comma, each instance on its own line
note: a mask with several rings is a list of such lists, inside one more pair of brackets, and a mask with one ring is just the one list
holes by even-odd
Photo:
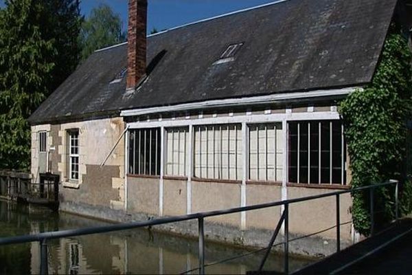
[[[131, 95], [125, 78], [110, 84], [126, 67], [127, 45], [101, 50], [30, 122], [363, 85], [374, 75], [395, 6], [396, 0], [289, 0], [149, 36], [148, 64], [165, 54]], [[233, 43], [244, 43], [235, 61], [214, 65]]]

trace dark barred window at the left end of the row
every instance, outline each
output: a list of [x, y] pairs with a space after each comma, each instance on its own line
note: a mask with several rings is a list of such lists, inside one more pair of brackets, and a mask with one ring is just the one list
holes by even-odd
[[129, 132], [129, 173], [160, 175], [160, 128]]

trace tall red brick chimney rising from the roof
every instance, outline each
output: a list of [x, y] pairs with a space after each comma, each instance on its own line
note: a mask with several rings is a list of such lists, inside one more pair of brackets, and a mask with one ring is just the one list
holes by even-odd
[[135, 89], [146, 74], [147, 11], [147, 0], [129, 0], [126, 90]]

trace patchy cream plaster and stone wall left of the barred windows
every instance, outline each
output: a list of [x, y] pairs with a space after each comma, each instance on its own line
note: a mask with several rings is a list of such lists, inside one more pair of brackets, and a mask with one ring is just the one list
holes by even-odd
[[[79, 131], [79, 179], [69, 180], [67, 131]], [[48, 170], [60, 175], [60, 203], [124, 209], [124, 139], [101, 164], [124, 131], [122, 118], [32, 126], [32, 177], [38, 178], [38, 132], [47, 131]]]

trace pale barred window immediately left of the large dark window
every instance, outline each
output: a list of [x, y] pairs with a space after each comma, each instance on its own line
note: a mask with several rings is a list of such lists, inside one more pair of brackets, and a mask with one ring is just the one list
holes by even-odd
[[282, 124], [249, 126], [249, 179], [282, 181]]

